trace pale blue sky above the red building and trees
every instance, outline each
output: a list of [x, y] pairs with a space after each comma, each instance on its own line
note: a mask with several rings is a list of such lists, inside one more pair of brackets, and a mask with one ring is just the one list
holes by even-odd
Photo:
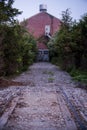
[[13, 7], [23, 11], [17, 16], [19, 21], [30, 18], [39, 13], [39, 5], [46, 4], [47, 12], [61, 19], [62, 11], [70, 9], [71, 17], [77, 21], [84, 13], [87, 13], [87, 0], [15, 0]]

